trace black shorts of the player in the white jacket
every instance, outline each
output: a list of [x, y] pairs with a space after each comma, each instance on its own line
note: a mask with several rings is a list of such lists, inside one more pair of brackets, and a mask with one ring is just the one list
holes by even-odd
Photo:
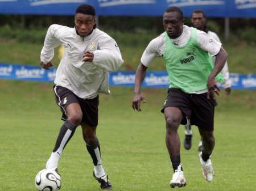
[[71, 103], [78, 103], [82, 110], [82, 122], [92, 127], [98, 125], [98, 96], [93, 99], [81, 99], [65, 87], [53, 86], [53, 90], [55, 92], [56, 103], [63, 113], [61, 120], [68, 120], [65, 110], [67, 106]]

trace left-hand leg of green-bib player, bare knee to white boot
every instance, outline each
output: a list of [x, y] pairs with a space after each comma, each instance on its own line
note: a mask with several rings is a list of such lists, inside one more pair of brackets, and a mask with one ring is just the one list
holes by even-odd
[[180, 163], [180, 138], [177, 134], [183, 114], [179, 108], [167, 107], [164, 109], [164, 117], [166, 118], [166, 146], [174, 169], [170, 186], [171, 188], [185, 186], [186, 180]]

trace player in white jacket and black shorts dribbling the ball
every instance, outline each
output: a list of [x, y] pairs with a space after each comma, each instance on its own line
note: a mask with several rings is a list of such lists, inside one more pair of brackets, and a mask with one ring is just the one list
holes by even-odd
[[40, 65], [52, 66], [54, 48], [65, 46], [65, 52], [56, 71], [56, 103], [63, 113], [63, 126], [46, 168], [57, 169], [64, 147], [81, 125], [86, 148], [92, 157], [93, 176], [102, 189], [112, 189], [102, 167], [100, 143], [96, 137], [98, 125], [98, 94], [110, 94], [108, 71], [115, 71], [123, 60], [115, 40], [96, 28], [93, 6], [80, 5], [75, 14], [75, 27], [52, 24], [47, 31], [41, 52]]

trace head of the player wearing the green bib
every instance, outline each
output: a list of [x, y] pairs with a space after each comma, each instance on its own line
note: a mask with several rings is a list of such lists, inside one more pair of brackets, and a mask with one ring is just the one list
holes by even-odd
[[163, 26], [171, 39], [179, 37], [183, 31], [184, 19], [177, 12], [164, 12]]

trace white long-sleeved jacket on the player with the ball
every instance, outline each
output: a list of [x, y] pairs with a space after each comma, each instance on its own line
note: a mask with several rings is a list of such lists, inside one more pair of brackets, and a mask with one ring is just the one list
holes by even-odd
[[[93, 29], [86, 37], [77, 35], [75, 28], [52, 24], [47, 31], [41, 51], [41, 61], [52, 60], [54, 49], [65, 46], [57, 67], [54, 83], [71, 90], [82, 99], [93, 99], [100, 92], [110, 94], [108, 71], [115, 71], [123, 60], [117, 43], [100, 29]], [[83, 62], [85, 51], [94, 55], [92, 62]]]

